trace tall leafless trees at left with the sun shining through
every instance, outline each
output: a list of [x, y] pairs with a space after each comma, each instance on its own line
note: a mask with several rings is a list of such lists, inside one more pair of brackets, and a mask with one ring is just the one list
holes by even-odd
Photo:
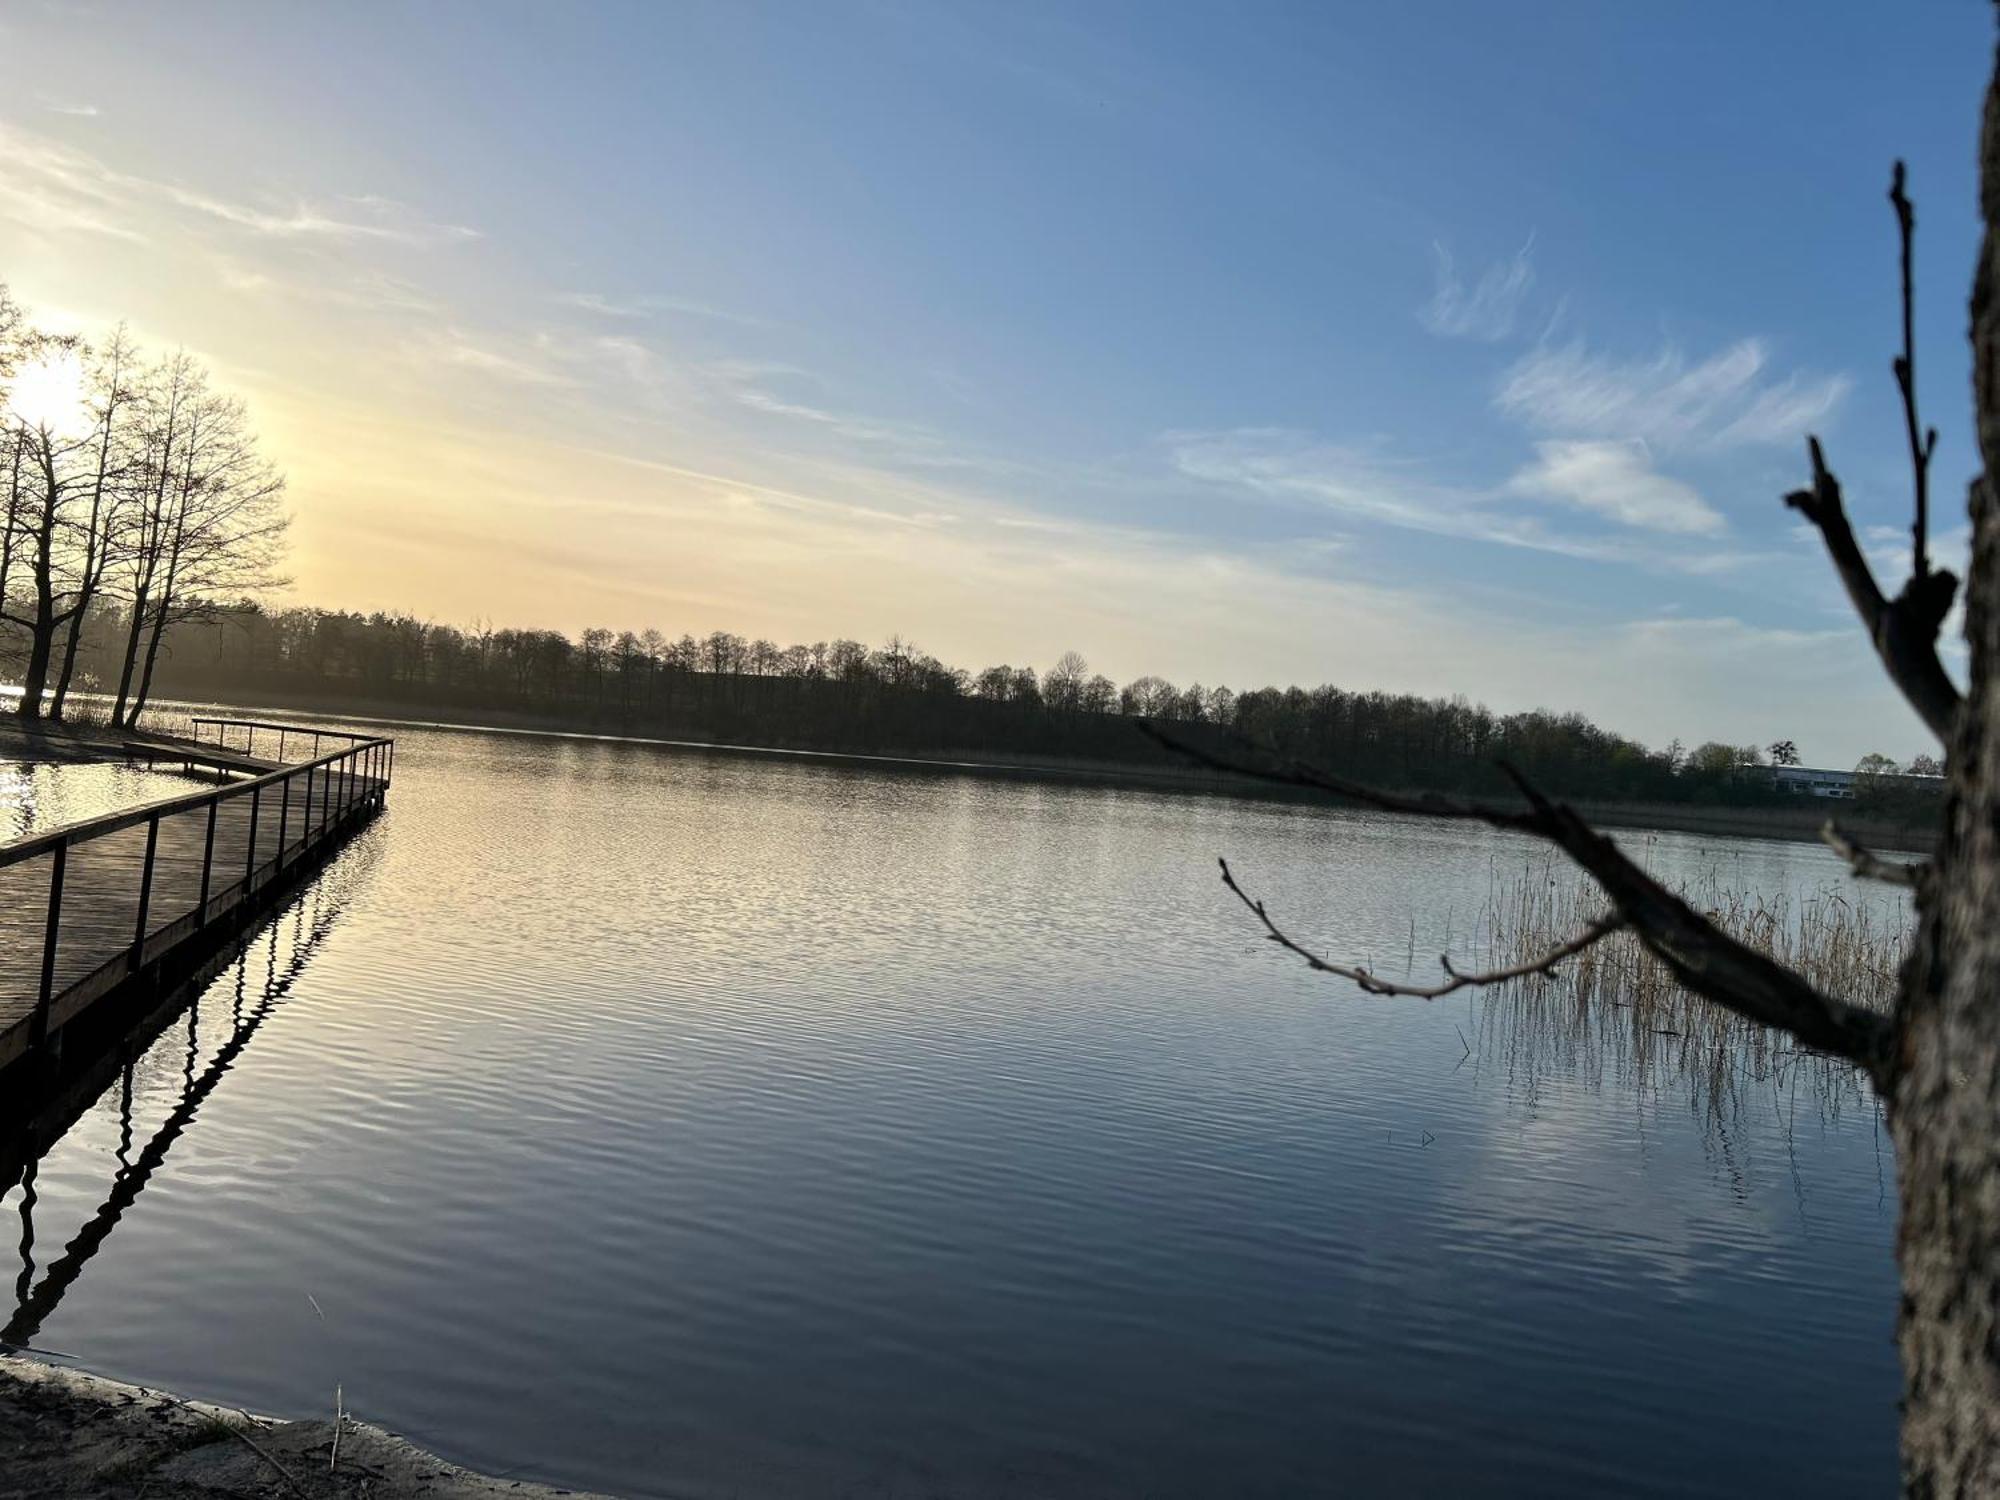
[[90, 658], [112, 720], [136, 720], [172, 630], [278, 582], [284, 478], [244, 404], [124, 326], [94, 344], [36, 328], [4, 284], [0, 486], [0, 662], [22, 718], [64, 718]]

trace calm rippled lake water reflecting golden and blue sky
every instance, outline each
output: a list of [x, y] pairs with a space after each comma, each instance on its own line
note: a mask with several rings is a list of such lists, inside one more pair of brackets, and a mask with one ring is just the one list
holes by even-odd
[[[534, 736], [396, 772], [0, 1198], [34, 1346], [634, 1496], [1894, 1486], [1866, 1100], [1708, 1112], [1370, 1000], [1214, 866], [1428, 974], [1530, 842]], [[0, 834], [160, 790], [0, 768]], [[1628, 842], [1854, 896], [1816, 846]]]

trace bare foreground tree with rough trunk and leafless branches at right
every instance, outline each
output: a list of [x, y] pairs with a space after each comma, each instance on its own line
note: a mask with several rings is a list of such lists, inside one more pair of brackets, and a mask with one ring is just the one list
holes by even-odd
[[1894, 360], [1914, 476], [1912, 576], [1894, 596], [1876, 584], [1848, 524], [1840, 484], [1818, 440], [1808, 444], [1810, 488], [1786, 496], [1832, 556], [1894, 686], [1946, 750], [1944, 830], [1938, 852], [1896, 866], [1840, 836], [1828, 842], [1858, 876], [1906, 884], [1918, 932], [1890, 1012], [1824, 994], [1800, 974], [1724, 934], [1576, 812], [1514, 776], [1520, 806], [1438, 794], [1392, 794], [1338, 772], [1244, 742], [1220, 754], [1158, 724], [1162, 744], [1212, 766], [1318, 788], [1392, 812], [1512, 828], [1570, 854], [1604, 890], [1608, 912], [1538, 962], [1498, 974], [1460, 974], [1440, 986], [1394, 986], [1366, 970], [1318, 958], [1288, 938], [1224, 864], [1222, 878], [1272, 942], [1316, 970], [1374, 994], [1442, 994], [1552, 968], [1606, 934], [1630, 928], [1672, 976], [1706, 1000], [1788, 1032], [1802, 1046], [1866, 1072], [1886, 1104], [1896, 1142], [1902, 1270], [1898, 1344], [1904, 1368], [1902, 1488], [1910, 1496], [2000, 1494], [2000, 58], [1980, 134], [1986, 234], [1972, 282], [1974, 416], [1982, 474], [1972, 482], [1972, 566], [1966, 580], [1970, 690], [1960, 694], [1938, 658], [1938, 634], [1956, 578], [1928, 556], [1930, 458], [1936, 432], [1918, 418], [1910, 246], [1914, 212], [1896, 166], [1890, 202], [1902, 244], [1902, 352]]

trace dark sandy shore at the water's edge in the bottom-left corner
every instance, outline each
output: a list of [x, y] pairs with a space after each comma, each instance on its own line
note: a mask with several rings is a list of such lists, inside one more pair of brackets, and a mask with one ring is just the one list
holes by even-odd
[[330, 1416], [314, 1422], [256, 1418], [38, 1360], [0, 1358], [0, 1496], [8, 1498], [582, 1496], [472, 1474], [352, 1418], [340, 1424], [338, 1436], [336, 1462]]

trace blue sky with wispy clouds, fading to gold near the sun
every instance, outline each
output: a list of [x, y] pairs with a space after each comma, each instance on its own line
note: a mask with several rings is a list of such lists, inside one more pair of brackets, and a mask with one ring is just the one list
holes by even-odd
[[250, 402], [286, 602], [1906, 760], [1782, 494], [1820, 434], [1900, 584], [1902, 156], [1964, 556], [1992, 44], [1974, 0], [16, 0], [0, 280]]

